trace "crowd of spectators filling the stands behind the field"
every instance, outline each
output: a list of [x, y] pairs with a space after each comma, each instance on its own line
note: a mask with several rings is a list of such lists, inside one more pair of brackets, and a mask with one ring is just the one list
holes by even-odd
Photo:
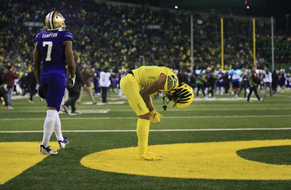
[[[189, 73], [191, 13], [148, 6], [113, 6], [104, 2], [85, 0], [65, 0], [61, 3], [10, 0], [1, 2], [1, 6], [0, 83], [4, 83], [1, 80], [6, 70], [11, 70], [17, 76], [15, 84], [19, 84], [24, 94], [26, 90], [35, 93], [31, 90], [33, 85], [27, 84], [27, 76], [33, 71], [32, 52], [35, 36], [40, 30], [45, 29], [24, 26], [23, 22], [44, 23], [45, 16], [51, 10], [60, 11], [66, 18], [66, 29], [73, 34], [74, 53], [80, 56], [82, 65], [86, 65], [88, 70], [96, 70], [92, 71], [96, 73], [92, 77], [95, 95], [99, 94], [98, 70], [104, 68], [110, 68], [109, 71], [114, 76], [112, 86], [118, 87], [119, 76], [126, 70], [142, 65], [167, 66], [177, 70], [186, 83], [192, 87], [197, 86], [198, 91], [202, 89], [204, 92], [207, 88], [213, 96], [213, 93], [217, 93], [216, 89], [219, 89], [217, 87], [224, 87], [227, 94], [226, 89], [232, 87], [232, 85], [228, 87], [228, 80], [231, 82], [230, 76], [233, 76], [228, 72], [222, 75], [219, 72], [219, 75], [214, 73], [214, 70], [251, 69], [253, 65], [252, 29], [249, 27], [251, 25], [249, 19], [244, 21], [234, 18], [224, 19], [225, 68], [221, 68], [220, 17], [215, 14], [193, 14], [194, 70], [205, 70], [201, 72], [202, 74], [197, 74]], [[290, 36], [277, 32], [274, 41], [276, 65], [288, 68], [291, 64]], [[258, 69], [269, 68], [270, 43], [270, 26], [260, 22], [256, 25]], [[278, 80], [273, 80], [273, 83], [277, 81], [283, 90], [284, 85], [288, 87], [290, 77], [285, 71], [277, 71], [276, 76]], [[282, 76], [284, 85], [279, 81]], [[224, 83], [218, 84], [217, 80], [221, 81], [223, 77]], [[12, 88], [12, 92], [13, 90], [19, 93], [16, 88]], [[276, 91], [276, 84], [273, 85], [273, 91]]]

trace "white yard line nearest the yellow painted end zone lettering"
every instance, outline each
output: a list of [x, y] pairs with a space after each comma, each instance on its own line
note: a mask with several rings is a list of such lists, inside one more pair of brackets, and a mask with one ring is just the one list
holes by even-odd
[[[291, 130], [291, 128], [234, 128], [234, 129], [160, 129], [157, 131], [251, 131], [251, 130]], [[43, 131], [0, 131], [0, 133], [42, 133]], [[62, 132], [136, 132], [136, 130], [64, 130]]]

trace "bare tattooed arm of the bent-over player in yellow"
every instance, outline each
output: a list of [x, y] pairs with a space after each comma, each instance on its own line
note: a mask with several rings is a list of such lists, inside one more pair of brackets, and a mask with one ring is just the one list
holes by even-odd
[[146, 107], [148, 107], [149, 111], [152, 111], [155, 109], [151, 103], [149, 95], [157, 92], [158, 90], [164, 90], [164, 87], [166, 84], [166, 78], [167, 76], [162, 73], [159, 76], [159, 80], [151, 83], [149, 86], [145, 87], [144, 89], [140, 91], [140, 95], [142, 96], [142, 99], [145, 101]]

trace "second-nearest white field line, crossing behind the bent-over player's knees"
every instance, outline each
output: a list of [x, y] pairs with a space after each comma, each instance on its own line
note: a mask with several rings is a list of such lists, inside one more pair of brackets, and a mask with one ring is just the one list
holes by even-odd
[[[229, 117], [291, 117], [291, 115], [232, 115], [232, 116], [181, 116], [164, 117], [165, 119], [175, 118], [229, 118]], [[137, 119], [138, 117], [63, 117], [61, 120], [97, 120], [97, 119]], [[2, 118], [0, 120], [44, 120], [45, 118]]]

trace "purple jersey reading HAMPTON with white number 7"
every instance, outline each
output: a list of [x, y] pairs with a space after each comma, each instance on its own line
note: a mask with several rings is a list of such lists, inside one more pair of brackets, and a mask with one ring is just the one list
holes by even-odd
[[73, 41], [73, 36], [66, 30], [39, 32], [35, 37], [42, 56], [42, 75], [56, 74], [65, 77], [66, 57], [63, 42], [68, 40]]

